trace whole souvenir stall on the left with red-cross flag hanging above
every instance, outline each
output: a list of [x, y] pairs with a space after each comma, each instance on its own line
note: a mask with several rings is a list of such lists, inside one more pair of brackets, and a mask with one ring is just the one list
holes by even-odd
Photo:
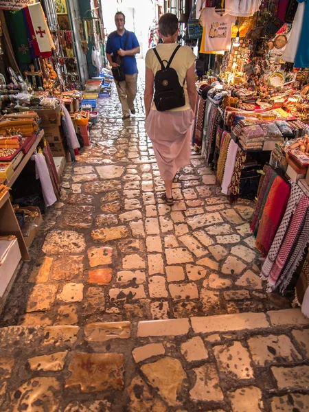
[[94, 74], [82, 80], [69, 5], [0, 5], [0, 302], [19, 260], [30, 260], [42, 214], [60, 198], [65, 162], [89, 145], [98, 99], [111, 93], [97, 47], [104, 41], [100, 10], [86, 10], [80, 19], [83, 58], [91, 59]]

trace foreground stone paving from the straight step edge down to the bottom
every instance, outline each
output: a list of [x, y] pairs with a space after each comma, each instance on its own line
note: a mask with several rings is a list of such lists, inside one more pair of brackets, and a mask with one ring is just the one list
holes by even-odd
[[308, 411], [309, 320], [292, 312], [295, 325], [235, 314], [216, 333], [196, 318], [2, 328], [0, 411]]

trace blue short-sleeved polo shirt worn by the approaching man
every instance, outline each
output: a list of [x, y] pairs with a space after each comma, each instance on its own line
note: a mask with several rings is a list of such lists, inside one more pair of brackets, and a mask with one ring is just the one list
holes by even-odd
[[[117, 32], [113, 32], [108, 36], [106, 42], [106, 53], [117, 56], [117, 50], [124, 50], [124, 43], [126, 41], [126, 30], [122, 36]], [[133, 32], [128, 34], [128, 43], [126, 44], [126, 50], [135, 49], [139, 47], [139, 41]], [[135, 74], [138, 73], [137, 63], [135, 56], [124, 56], [124, 73]]]

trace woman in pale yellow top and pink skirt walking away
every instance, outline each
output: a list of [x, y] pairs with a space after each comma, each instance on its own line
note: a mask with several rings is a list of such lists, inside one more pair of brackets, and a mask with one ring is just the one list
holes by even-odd
[[[163, 14], [159, 19], [159, 36], [163, 43], [157, 45], [156, 49], [148, 50], [146, 54], [145, 126], [152, 141], [161, 177], [165, 183], [166, 192], [163, 194], [163, 200], [168, 205], [172, 205], [174, 202], [172, 181], [176, 172], [179, 168], [190, 164], [191, 125], [194, 121], [196, 105], [194, 72], [196, 56], [190, 47], [179, 46], [175, 43], [178, 34], [179, 21], [177, 17], [171, 13]], [[173, 96], [176, 93], [173, 90], [164, 92], [164, 87], [166, 86], [168, 89], [169, 82], [172, 83], [173, 76], [175, 76], [170, 71], [166, 75], [167, 71], [163, 69], [168, 69], [168, 67], [174, 69], [178, 76], [179, 84], [177, 82], [174, 86], [176, 93], [184, 87], [183, 98], [180, 96], [180, 98], [175, 99]], [[160, 73], [165, 73], [168, 80], [160, 82], [161, 79], [164, 79], [162, 76], [158, 77]], [[154, 80], [157, 90], [155, 100], [152, 102]], [[161, 87], [160, 98], [156, 96], [159, 94], [159, 87]], [[166, 109], [169, 106], [174, 108]]]

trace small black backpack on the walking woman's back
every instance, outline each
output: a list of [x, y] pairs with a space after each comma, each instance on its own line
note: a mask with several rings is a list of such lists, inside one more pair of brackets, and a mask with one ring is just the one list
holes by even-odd
[[180, 49], [181, 45], [178, 45], [165, 67], [156, 49], [153, 49], [157, 56], [161, 70], [158, 70], [155, 76], [155, 98], [154, 102], [157, 111], [170, 110], [171, 108], [185, 106], [185, 92], [183, 87], [179, 83], [178, 74], [175, 69], [170, 67], [175, 54]]

